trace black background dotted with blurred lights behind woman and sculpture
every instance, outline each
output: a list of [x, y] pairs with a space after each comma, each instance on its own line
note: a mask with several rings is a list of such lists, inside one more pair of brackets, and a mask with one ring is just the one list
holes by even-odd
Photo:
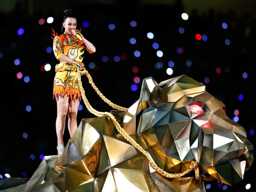
[[[192, 3], [193, 2], [193, 3]], [[30, 178], [36, 171], [42, 156], [57, 154], [57, 136], [55, 132], [56, 102], [52, 100], [52, 83], [57, 59], [52, 47], [52, 28], [60, 34], [64, 9], [77, 12], [78, 28], [83, 21], [89, 26], [82, 28], [82, 33], [96, 47], [94, 54], [85, 53], [85, 67], [95, 85], [111, 102], [129, 107], [140, 97], [142, 80], [152, 76], [158, 83], [175, 76], [187, 75], [204, 83], [209, 78], [206, 90], [226, 105], [226, 113], [232, 119], [235, 109], [240, 111], [239, 123], [247, 132], [249, 141], [255, 146], [255, 64], [256, 64], [256, 14], [253, 0], [73, 0], [73, 1], [0, 1], [0, 64], [1, 71], [1, 128], [0, 128], [0, 176]], [[188, 20], [181, 14], [186, 12]], [[53, 17], [52, 24], [39, 25], [39, 19]], [[131, 27], [130, 21], [137, 26]], [[221, 27], [228, 24], [227, 29]], [[108, 25], [115, 24], [114, 30]], [[183, 27], [185, 33], [178, 32]], [[17, 30], [24, 28], [24, 34], [17, 36]], [[154, 33], [153, 39], [147, 33]], [[195, 34], [205, 34], [206, 41], [197, 40]], [[129, 43], [135, 38], [137, 43]], [[230, 45], [225, 44], [230, 40]], [[157, 57], [152, 43], [158, 43], [164, 55]], [[177, 53], [177, 47], [184, 52]], [[133, 52], [139, 50], [141, 57]], [[125, 60], [114, 61], [114, 56], [126, 55]], [[102, 62], [107, 56], [108, 62]], [[18, 66], [14, 60], [20, 59]], [[187, 61], [192, 66], [187, 66]], [[173, 61], [173, 74], [167, 75], [168, 62]], [[93, 62], [96, 67], [88, 66]], [[157, 62], [163, 67], [155, 68]], [[41, 71], [41, 66], [50, 63], [50, 71]], [[133, 66], [140, 71], [135, 74]], [[216, 68], [221, 69], [216, 73]], [[25, 83], [16, 74], [22, 72], [29, 76]], [[248, 78], [243, 78], [243, 73]], [[138, 90], [130, 86], [134, 76], [140, 77]], [[97, 96], [86, 76], [82, 76], [85, 94], [92, 107], [98, 111], [110, 111], [111, 108]], [[244, 95], [241, 101], [238, 96]], [[32, 110], [26, 111], [30, 105]], [[95, 117], [90, 114], [83, 102], [83, 109], [78, 111], [78, 125], [83, 118]], [[28, 134], [24, 138], [23, 133]], [[65, 143], [69, 140], [66, 128]], [[31, 159], [30, 155], [35, 155]], [[226, 191], [254, 191], [256, 189], [255, 166], [252, 164], [245, 173], [244, 180], [228, 186]], [[251, 189], [245, 190], [250, 183]], [[207, 184], [207, 182], [206, 182]], [[216, 183], [206, 191], [222, 191]]]

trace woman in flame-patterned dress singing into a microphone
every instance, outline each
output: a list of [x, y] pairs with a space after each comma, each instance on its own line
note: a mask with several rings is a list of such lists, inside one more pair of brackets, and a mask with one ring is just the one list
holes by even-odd
[[[83, 69], [83, 53], [94, 53], [95, 46], [90, 43], [76, 29], [76, 17], [71, 9], [63, 13], [63, 34], [53, 39], [53, 51], [59, 64], [56, 65], [56, 74], [53, 83], [53, 99], [57, 102], [57, 151], [61, 155], [64, 151], [63, 135], [65, 129], [66, 114], [68, 114], [69, 135], [75, 133], [77, 129], [77, 112], [81, 101], [81, 92], [76, 77], [77, 67]], [[77, 35], [78, 34], [78, 35]]]

